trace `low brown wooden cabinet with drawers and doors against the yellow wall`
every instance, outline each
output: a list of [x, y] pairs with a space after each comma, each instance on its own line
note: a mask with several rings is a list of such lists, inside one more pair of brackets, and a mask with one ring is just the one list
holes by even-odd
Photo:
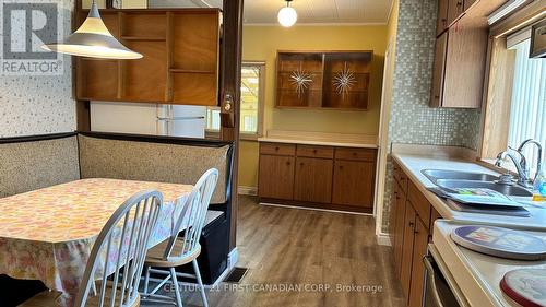
[[310, 208], [373, 210], [376, 149], [260, 142], [258, 196]]

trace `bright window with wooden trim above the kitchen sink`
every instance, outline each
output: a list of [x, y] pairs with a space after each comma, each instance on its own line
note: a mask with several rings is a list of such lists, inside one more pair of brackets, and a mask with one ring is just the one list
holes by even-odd
[[[530, 58], [531, 27], [503, 34], [509, 31], [509, 24], [491, 31], [495, 38], [490, 46], [480, 150], [482, 160], [489, 163], [496, 161], [499, 152], [517, 149], [527, 139], [538, 141], [546, 149], [546, 59]], [[496, 35], [496, 32], [501, 34]], [[530, 145], [523, 154], [533, 175], [538, 151]], [[502, 166], [514, 170], [511, 162]]]

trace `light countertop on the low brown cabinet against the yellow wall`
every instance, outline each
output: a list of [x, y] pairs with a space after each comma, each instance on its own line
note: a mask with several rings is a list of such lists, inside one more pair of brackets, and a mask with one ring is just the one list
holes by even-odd
[[377, 149], [377, 135], [270, 130], [259, 142]]

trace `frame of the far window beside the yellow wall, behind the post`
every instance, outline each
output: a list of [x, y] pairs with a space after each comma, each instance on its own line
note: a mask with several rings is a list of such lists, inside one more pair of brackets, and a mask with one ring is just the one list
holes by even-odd
[[[265, 106], [265, 74], [266, 74], [266, 66], [265, 61], [242, 61], [241, 62], [241, 69], [245, 67], [258, 67], [260, 72], [258, 76], [258, 82], [259, 82], [259, 94], [258, 94], [258, 116], [257, 116], [257, 132], [256, 133], [249, 133], [249, 132], [239, 132], [239, 139], [245, 140], [245, 141], [258, 141], [259, 138], [263, 135], [263, 114], [264, 114], [264, 106]], [[240, 102], [239, 102], [240, 103]], [[213, 107], [214, 109], [219, 107]], [[239, 118], [239, 123], [240, 123], [240, 118]], [[240, 130], [240, 127], [239, 127]], [[216, 130], [211, 130], [211, 129], [205, 129], [205, 138], [207, 139], [219, 139], [219, 131]]]

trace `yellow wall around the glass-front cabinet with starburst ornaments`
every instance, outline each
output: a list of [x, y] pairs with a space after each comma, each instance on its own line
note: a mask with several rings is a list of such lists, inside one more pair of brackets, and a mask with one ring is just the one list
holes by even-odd
[[[268, 129], [378, 134], [383, 59], [388, 27], [377, 26], [244, 26], [242, 60], [265, 62], [264, 132]], [[368, 111], [277, 109], [277, 50], [373, 50]], [[241, 141], [239, 186], [258, 184], [258, 143]]]

